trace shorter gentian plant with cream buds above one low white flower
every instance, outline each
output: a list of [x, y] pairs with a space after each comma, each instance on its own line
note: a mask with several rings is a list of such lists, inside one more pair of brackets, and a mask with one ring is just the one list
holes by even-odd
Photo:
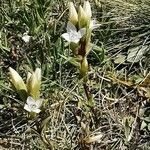
[[28, 73], [26, 84], [22, 77], [13, 68], [9, 67], [9, 80], [13, 89], [17, 91], [23, 102], [26, 101], [24, 109], [34, 116], [39, 113], [43, 100], [40, 99], [41, 69], [36, 68], [35, 72]]

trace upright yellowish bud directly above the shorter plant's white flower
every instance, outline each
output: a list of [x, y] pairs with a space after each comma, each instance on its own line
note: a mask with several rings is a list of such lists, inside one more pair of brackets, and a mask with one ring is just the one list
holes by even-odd
[[28, 95], [32, 96], [34, 99], [38, 99], [40, 95], [41, 86], [41, 69], [37, 68], [30, 78], [27, 80]]

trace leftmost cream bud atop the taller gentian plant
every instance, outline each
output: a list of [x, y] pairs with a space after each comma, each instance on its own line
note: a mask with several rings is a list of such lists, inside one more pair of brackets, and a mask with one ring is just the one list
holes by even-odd
[[74, 7], [73, 2], [69, 2], [69, 21], [76, 26], [78, 22], [78, 14]]

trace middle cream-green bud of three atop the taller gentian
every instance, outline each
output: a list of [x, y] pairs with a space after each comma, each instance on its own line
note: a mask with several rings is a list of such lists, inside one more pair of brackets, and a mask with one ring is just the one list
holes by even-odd
[[87, 15], [81, 5], [79, 6], [78, 10], [78, 21], [80, 29], [85, 28], [87, 26], [88, 23]]

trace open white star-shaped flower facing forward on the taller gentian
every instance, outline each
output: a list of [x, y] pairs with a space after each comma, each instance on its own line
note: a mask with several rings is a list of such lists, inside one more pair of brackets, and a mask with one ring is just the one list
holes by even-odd
[[68, 22], [67, 33], [62, 34], [62, 37], [68, 42], [78, 43], [85, 32], [85, 28], [81, 28], [79, 31], [77, 31], [76, 27], [71, 22]]

